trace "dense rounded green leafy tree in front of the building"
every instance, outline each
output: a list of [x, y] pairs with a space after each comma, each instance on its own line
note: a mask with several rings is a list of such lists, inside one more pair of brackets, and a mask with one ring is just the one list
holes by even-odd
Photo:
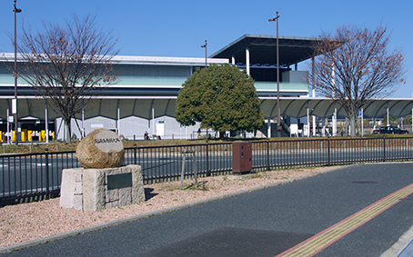
[[196, 69], [179, 90], [175, 118], [183, 125], [199, 122], [221, 136], [264, 126], [254, 80], [230, 64]]

